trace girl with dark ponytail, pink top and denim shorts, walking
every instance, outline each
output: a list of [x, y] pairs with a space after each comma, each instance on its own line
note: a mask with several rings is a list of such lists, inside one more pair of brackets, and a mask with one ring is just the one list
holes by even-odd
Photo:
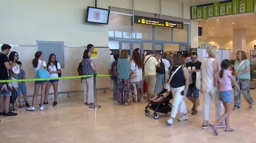
[[231, 63], [229, 60], [225, 59], [221, 63], [221, 70], [215, 74], [215, 86], [219, 89], [219, 100], [222, 101], [225, 107], [225, 113], [213, 124], [213, 132], [215, 135], [218, 135], [217, 126], [225, 120], [226, 129], [225, 132], [234, 132], [236, 129], [229, 127], [229, 114], [231, 113], [231, 104], [233, 103], [232, 99], [232, 86], [231, 82], [233, 82], [234, 86], [240, 91], [239, 86], [236, 83], [234, 76], [231, 74], [230, 69]]

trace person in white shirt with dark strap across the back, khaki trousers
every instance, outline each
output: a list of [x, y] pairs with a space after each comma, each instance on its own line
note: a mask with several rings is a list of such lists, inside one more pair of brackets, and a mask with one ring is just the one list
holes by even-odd
[[144, 75], [146, 83], [148, 84], [148, 101], [150, 98], [154, 97], [155, 82], [157, 81], [156, 67], [160, 67], [160, 63], [155, 59], [155, 51], [151, 51], [144, 59]]

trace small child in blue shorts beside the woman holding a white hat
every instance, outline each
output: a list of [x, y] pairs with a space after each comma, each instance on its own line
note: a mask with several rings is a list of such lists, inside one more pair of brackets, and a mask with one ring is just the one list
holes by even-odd
[[[23, 80], [26, 77], [25, 77], [25, 71], [21, 68], [22, 63], [20, 61], [17, 61], [16, 63], [20, 67], [20, 73], [18, 74], [18, 80]], [[22, 95], [23, 95], [23, 99], [24, 99], [26, 107], [30, 107], [30, 104], [28, 104], [28, 98], [27, 98], [27, 87], [26, 87], [26, 83], [24, 81], [18, 83], [18, 89], [17, 89], [18, 99], [20, 98], [20, 93], [22, 93]], [[19, 100], [19, 102], [20, 102], [20, 100]]]

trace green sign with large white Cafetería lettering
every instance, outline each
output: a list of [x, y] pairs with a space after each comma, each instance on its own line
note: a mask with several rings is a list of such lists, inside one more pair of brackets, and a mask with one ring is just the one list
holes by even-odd
[[190, 7], [191, 19], [256, 13], [256, 0], [228, 0]]

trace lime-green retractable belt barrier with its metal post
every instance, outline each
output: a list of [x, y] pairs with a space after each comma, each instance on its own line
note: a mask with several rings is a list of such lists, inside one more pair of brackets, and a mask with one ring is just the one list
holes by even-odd
[[27, 82], [27, 81], [46, 81], [46, 80], [67, 80], [67, 79], [74, 79], [74, 78], [83, 78], [83, 77], [93, 77], [93, 99], [94, 103], [89, 108], [101, 108], [100, 105], [96, 105], [96, 77], [111, 77], [112, 75], [80, 75], [80, 76], [72, 76], [72, 77], [56, 77], [56, 78], [30, 78], [30, 79], [23, 79], [23, 80], [0, 80], [0, 83], [11, 83], [11, 82]]

